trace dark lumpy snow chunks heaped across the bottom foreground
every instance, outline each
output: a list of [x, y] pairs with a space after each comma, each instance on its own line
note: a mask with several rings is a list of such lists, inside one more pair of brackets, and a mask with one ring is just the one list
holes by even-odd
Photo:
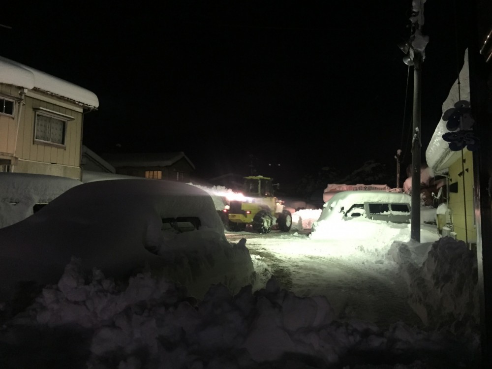
[[474, 347], [401, 322], [382, 331], [334, 320], [325, 297], [297, 297], [275, 278], [236, 295], [216, 284], [197, 302], [164, 277], [143, 273], [119, 285], [96, 269], [84, 275], [73, 259], [58, 284], [3, 326], [0, 349], [2, 368], [62, 368], [69, 360], [93, 369], [401, 369], [458, 368]]

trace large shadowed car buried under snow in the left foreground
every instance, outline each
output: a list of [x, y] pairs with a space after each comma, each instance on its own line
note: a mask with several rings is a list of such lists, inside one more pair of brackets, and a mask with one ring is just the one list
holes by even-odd
[[[227, 242], [210, 195], [174, 181], [77, 185], [0, 229], [0, 240], [0, 300], [21, 281], [56, 282], [72, 257], [88, 272], [97, 268], [115, 278], [158, 271], [197, 298], [211, 281], [227, 285], [238, 271], [254, 273], [246, 247]], [[206, 265], [199, 261], [204, 255]]]

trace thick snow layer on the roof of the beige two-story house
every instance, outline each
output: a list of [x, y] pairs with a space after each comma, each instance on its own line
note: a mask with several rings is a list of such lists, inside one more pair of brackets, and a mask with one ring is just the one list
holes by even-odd
[[93, 92], [1, 56], [0, 83], [47, 92], [90, 108], [99, 107], [99, 100]]

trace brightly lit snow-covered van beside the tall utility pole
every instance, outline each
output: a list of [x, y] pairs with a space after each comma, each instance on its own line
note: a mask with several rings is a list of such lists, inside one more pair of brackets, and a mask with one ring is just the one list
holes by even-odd
[[[411, 196], [389, 191], [342, 191], [324, 205], [311, 228], [311, 239], [387, 239], [388, 229], [393, 230], [392, 240], [409, 238]], [[357, 232], [354, 232], [357, 229]], [[431, 238], [435, 226], [421, 224], [421, 232]], [[435, 238], [435, 237], [434, 237]]]

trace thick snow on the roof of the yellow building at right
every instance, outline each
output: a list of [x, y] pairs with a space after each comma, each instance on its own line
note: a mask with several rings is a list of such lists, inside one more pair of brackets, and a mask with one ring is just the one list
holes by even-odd
[[[458, 84], [460, 82], [460, 84]], [[468, 68], [468, 49], [464, 53], [464, 63], [460, 71], [459, 80], [449, 90], [448, 97], [442, 104], [442, 113], [448, 109], [451, 109], [460, 100], [470, 101], [470, 72]], [[446, 172], [447, 168], [453, 164], [459, 157], [461, 152], [451, 151], [449, 149], [449, 143], [442, 139], [442, 135], [449, 130], [446, 128], [446, 122], [442, 119], [437, 124], [435, 131], [432, 135], [431, 142], [426, 150], [427, 165], [435, 173]], [[467, 149], [464, 149], [467, 150]]]

